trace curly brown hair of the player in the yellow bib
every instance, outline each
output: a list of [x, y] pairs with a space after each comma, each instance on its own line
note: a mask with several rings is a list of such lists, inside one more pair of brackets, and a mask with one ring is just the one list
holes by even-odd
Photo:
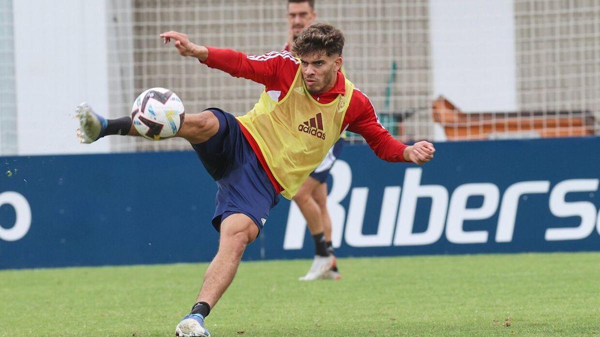
[[344, 33], [331, 23], [315, 23], [302, 29], [292, 49], [298, 56], [310, 55], [314, 52], [325, 53], [327, 56], [341, 55], [344, 49]]

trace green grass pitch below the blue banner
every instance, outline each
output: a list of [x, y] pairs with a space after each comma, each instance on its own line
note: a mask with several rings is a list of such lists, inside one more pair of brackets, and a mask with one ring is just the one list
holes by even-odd
[[[600, 253], [242, 263], [213, 336], [600, 334]], [[0, 271], [0, 336], [173, 336], [207, 264]]]

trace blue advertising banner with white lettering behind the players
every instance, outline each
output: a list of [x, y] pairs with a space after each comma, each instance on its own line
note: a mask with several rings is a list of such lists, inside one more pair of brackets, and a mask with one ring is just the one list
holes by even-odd
[[[424, 166], [346, 146], [336, 255], [600, 250], [600, 138], [436, 144]], [[215, 183], [194, 152], [1, 157], [0, 269], [209, 261]], [[311, 258], [281, 198], [245, 260]]]

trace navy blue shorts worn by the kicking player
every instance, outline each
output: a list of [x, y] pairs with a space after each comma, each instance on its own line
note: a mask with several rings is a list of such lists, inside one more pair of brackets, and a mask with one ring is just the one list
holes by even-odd
[[219, 131], [206, 142], [191, 146], [219, 188], [212, 225], [220, 231], [227, 216], [242, 213], [250, 216], [260, 231], [269, 210], [279, 202], [277, 192], [235, 117], [221, 109], [206, 110], [217, 116]]

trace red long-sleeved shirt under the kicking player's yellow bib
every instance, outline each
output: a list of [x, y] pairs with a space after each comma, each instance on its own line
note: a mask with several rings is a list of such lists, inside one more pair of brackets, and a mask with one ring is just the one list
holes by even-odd
[[[232, 49], [214, 47], [208, 47], [208, 59], [203, 63], [208, 65], [208, 67], [225, 71], [232, 76], [244, 77], [244, 79], [265, 85], [265, 91], [276, 101], [286, 97], [287, 91], [292, 86], [296, 73], [298, 73], [298, 67], [300, 67], [298, 59], [286, 51], [252, 56]], [[335, 100], [338, 95], [344, 95], [344, 91], [344, 75], [341, 71], [338, 71], [334, 88], [322, 94], [311, 95], [320, 103], [327, 104]], [[373, 152], [382, 160], [392, 162], [404, 161], [404, 149], [406, 145], [394, 139], [388, 130], [381, 125], [373, 104], [356, 87], [346, 110], [346, 116], [344, 116], [343, 130], [358, 133], [364, 137], [368, 145], [373, 149]], [[272, 176], [258, 145], [243, 126], [242, 132], [248, 139], [254, 152], [256, 152], [260, 163], [271, 178], [275, 189], [277, 192], [281, 192], [282, 188]]]

